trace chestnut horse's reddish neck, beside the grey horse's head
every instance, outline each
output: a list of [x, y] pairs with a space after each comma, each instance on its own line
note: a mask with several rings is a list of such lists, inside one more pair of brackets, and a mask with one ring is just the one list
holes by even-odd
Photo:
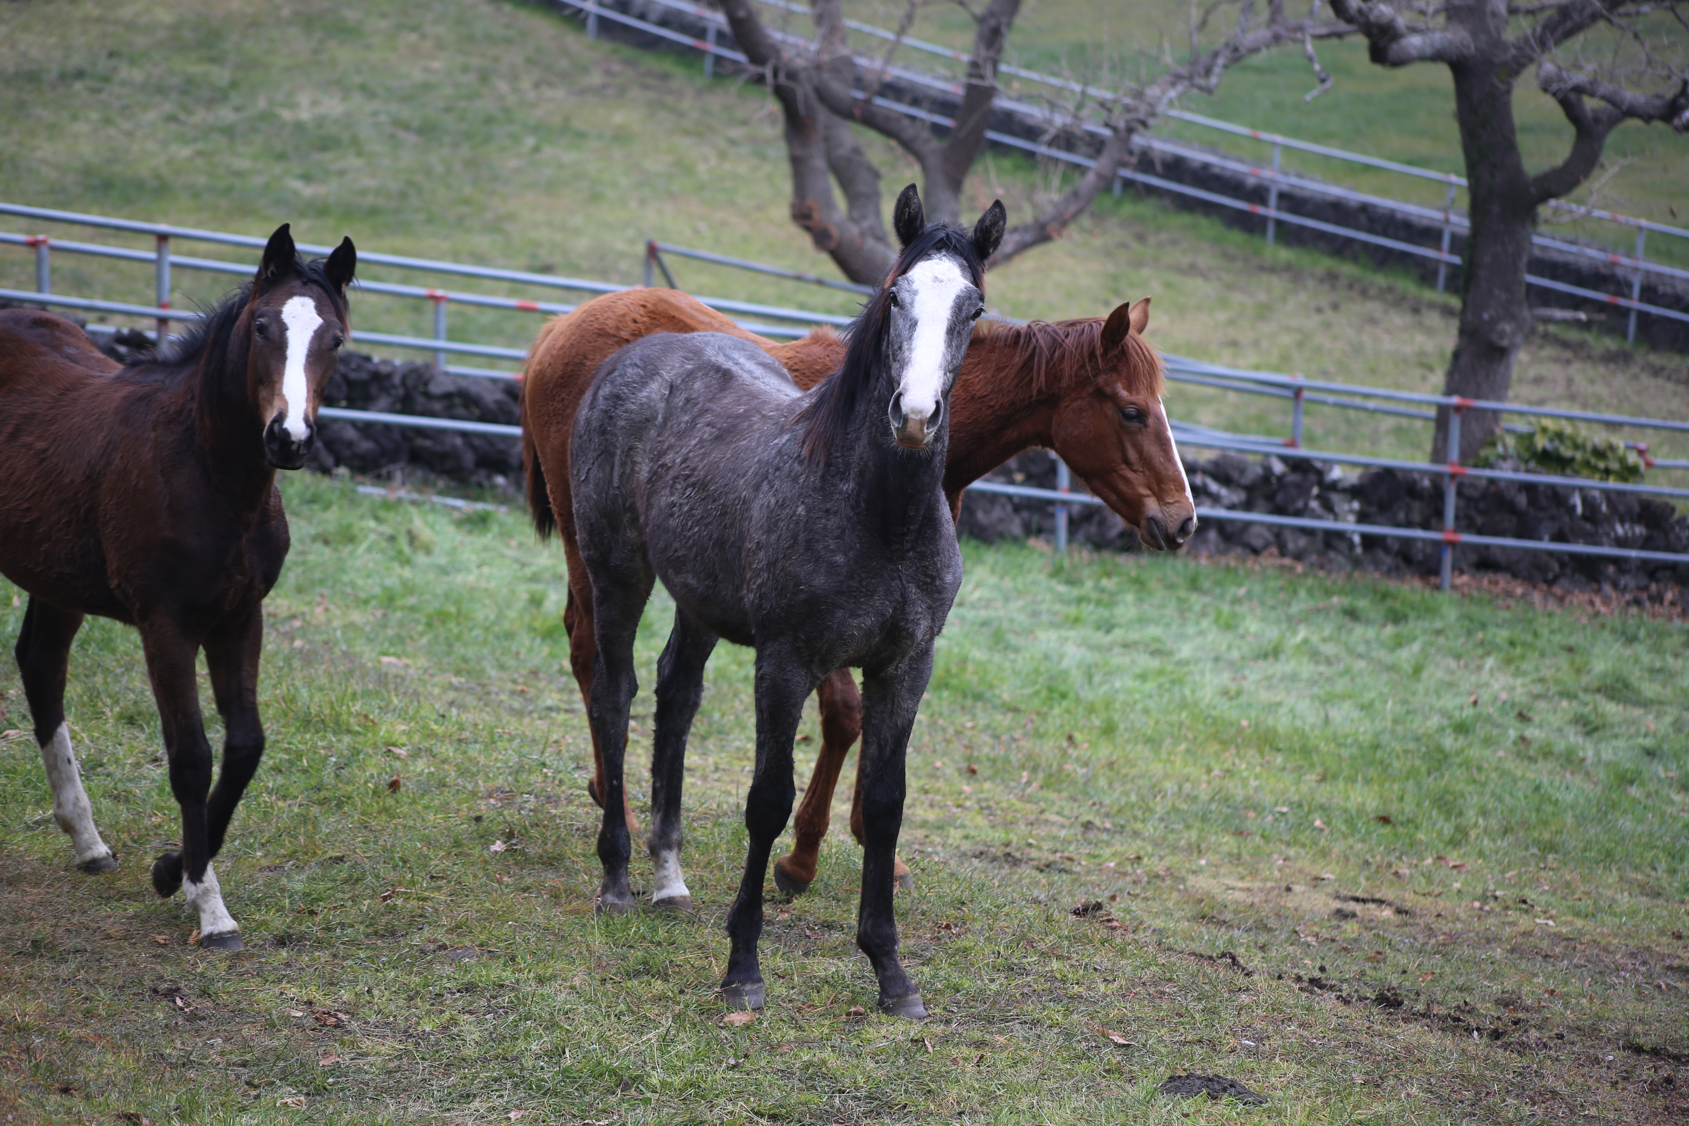
[[[1042, 388], [1020, 378], [1005, 351], [1018, 346], [1003, 333], [983, 333], [968, 346], [951, 393], [949, 461], [944, 491], [956, 495], [1015, 454], [1049, 446], [1056, 405], [1067, 392], [1066, 371], [1052, 365]], [[1008, 373], [1007, 378], [1003, 373]]]

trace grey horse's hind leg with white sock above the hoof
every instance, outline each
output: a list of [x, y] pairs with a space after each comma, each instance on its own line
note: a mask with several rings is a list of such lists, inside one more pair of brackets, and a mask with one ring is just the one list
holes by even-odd
[[681, 873], [681, 788], [686, 782], [686, 736], [704, 699], [704, 663], [716, 635], [674, 611], [674, 630], [657, 660], [657, 733], [650, 755], [650, 836], [645, 847], [657, 874], [654, 907], [692, 910]]

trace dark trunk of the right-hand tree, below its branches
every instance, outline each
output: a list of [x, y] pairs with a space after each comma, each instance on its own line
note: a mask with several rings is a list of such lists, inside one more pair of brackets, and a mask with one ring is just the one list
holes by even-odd
[[[1513, 361], [1532, 326], [1525, 267], [1537, 214], [1513, 128], [1517, 74], [1493, 57], [1453, 62], [1449, 69], [1466, 157], [1471, 233], [1463, 263], [1459, 336], [1442, 393], [1505, 400]], [[1493, 410], [1463, 412], [1459, 461], [1469, 461], [1500, 425], [1502, 417]], [[1447, 432], [1449, 412], [1439, 409], [1431, 461], [1447, 461]]]

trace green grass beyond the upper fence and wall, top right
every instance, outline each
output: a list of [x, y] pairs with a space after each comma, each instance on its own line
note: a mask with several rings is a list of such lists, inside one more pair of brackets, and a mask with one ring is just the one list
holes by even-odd
[[[856, 19], [895, 27], [904, 5], [897, 0], [853, 0], [848, 7]], [[1120, 5], [1116, 0], [1029, 3], [1015, 22], [1010, 54], [1020, 66], [1059, 74], [1135, 73], [1143, 57], [1138, 52], [1154, 52], [1162, 42], [1186, 42], [1189, 14], [1191, 5], [1176, 0], [1138, 0], [1132, 5]], [[1660, 20], [1652, 30], [1664, 34], [1679, 49], [1686, 42], [1686, 32], [1670, 20]], [[951, 5], [931, 5], [922, 8], [910, 34], [968, 49], [973, 42], [973, 20]], [[872, 42], [861, 39], [863, 46]], [[1596, 32], [1586, 54], [1601, 57], [1610, 46]], [[909, 57], [922, 59], [926, 66], [939, 64], [932, 56]], [[1285, 49], [1250, 59], [1226, 74], [1211, 98], [1191, 98], [1179, 108], [1432, 171], [1461, 171], [1447, 68], [1385, 69], [1366, 59], [1361, 42], [1322, 44], [1319, 59], [1334, 83], [1314, 101], [1304, 101], [1314, 88], [1307, 61], [1299, 49]], [[1022, 91], [1044, 93], [1035, 83], [1024, 83]], [[1527, 165], [1540, 169], [1564, 160], [1572, 130], [1559, 106], [1537, 89], [1530, 76], [1518, 84], [1513, 105]], [[1380, 127], [1382, 123], [1387, 125]], [[1198, 125], [1167, 123], [1159, 132], [1252, 159], [1270, 159], [1267, 145], [1252, 145]], [[1606, 160], [1610, 167], [1623, 167], [1601, 187], [1598, 206], [1672, 226], [1682, 226], [1682, 219], [1689, 219], [1689, 140], [1659, 125], [1628, 123], [1608, 140]], [[1436, 184], [1307, 154], [1285, 152], [1285, 167], [1395, 199], [1427, 206], [1442, 206], [1444, 201], [1444, 189]], [[1588, 189], [1579, 189], [1572, 198], [1588, 203]], [[1672, 216], [1670, 208], [1675, 208], [1679, 218]], [[1635, 235], [1625, 238], [1606, 225], [1574, 225], [1569, 230], [1583, 236], [1616, 240], [1616, 245], [1635, 240]], [[1655, 236], [1650, 250], [1660, 253], [1662, 260], [1689, 260], [1684, 240]]]

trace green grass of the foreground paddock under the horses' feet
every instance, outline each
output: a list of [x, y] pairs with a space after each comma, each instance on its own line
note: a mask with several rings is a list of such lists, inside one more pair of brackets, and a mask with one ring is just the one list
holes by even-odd
[[[176, 810], [132, 631], [84, 628], [68, 707], [117, 873], [71, 869], [29, 736], [0, 736], [17, 1121], [1245, 1118], [1152, 1097], [1192, 1070], [1270, 1096], [1248, 1121], [1682, 1111], [1662, 1085], [1689, 1050], [1681, 625], [969, 544], [902, 837], [936, 1018], [850, 1015], [873, 977], [844, 834], [807, 896], [770, 903], [770, 1008], [731, 1030], [713, 988], [748, 652], [718, 650], [687, 758], [699, 915], [596, 920], [559, 552], [520, 513], [284, 490], [270, 744], [218, 861], [248, 950], [189, 947], [147, 886]], [[659, 596], [635, 760], [665, 621]], [[27, 731], [20, 696], [5, 665], [0, 731]], [[1121, 925], [1069, 913], [1093, 900]]]

